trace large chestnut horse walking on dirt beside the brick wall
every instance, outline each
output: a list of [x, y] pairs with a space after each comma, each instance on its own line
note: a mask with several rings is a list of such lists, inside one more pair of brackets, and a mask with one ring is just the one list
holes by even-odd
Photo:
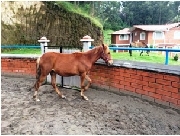
[[[37, 59], [37, 81], [34, 85], [35, 93], [33, 98], [36, 101], [40, 101], [38, 99], [39, 87], [42, 85], [46, 76], [50, 73], [51, 84], [61, 98], [66, 97], [56, 86], [56, 74], [67, 77], [79, 75], [81, 79], [81, 97], [88, 100], [84, 95], [84, 91], [86, 91], [91, 84], [91, 79], [89, 78], [88, 73], [90, 72], [92, 65], [100, 58], [108, 65], [113, 63], [107, 45], [102, 44], [87, 52], [75, 52], [72, 54], [47, 52], [43, 54]], [[88, 81], [86, 86], [84, 85], [85, 79]]]

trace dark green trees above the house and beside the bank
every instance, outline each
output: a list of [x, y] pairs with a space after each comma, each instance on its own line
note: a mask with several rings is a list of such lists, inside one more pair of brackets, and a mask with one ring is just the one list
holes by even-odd
[[[119, 30], [133, 25], [166, 24], [179, 21], [180, 1], [71, 1], [104, 29]], [[179, 10], [180, 14], [180, 10]]]

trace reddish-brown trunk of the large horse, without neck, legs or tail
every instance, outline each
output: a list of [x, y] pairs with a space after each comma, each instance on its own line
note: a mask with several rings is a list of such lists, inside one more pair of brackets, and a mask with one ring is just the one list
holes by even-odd
[[84, 66], [81, 67], [83, 53], [56, 53], [47, 52], [41, 57], [41, 67], [47, 70], [47, 73], [54, 70], [62, 76], [79, 75], [84, 71]]

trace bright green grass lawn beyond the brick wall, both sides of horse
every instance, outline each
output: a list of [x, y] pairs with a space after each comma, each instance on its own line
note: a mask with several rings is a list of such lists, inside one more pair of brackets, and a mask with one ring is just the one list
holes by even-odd
[[[3, 51], [2, 53], [6, 54], [41, 54], [40, 49], [16, 49], [10, 51]], [[133, 55], [130, 56], [129, 52], [119, 52], [115, 53], [111, 51], [113, 59], [119, 60], [131, 60], [131, 61], [140, 61], [140, 62], [151, 62], [151, 63], [165, 63], [165, 56], [155, 52], [150, 52], [150, 55], [147, 56], [146, 53], [143, 53], [143, 56], [140, 56], [140, 52], [133, 51]], [[169, 57], [169, 65], [180, 65], [180, 62], [175, 61], [173, 57]]]

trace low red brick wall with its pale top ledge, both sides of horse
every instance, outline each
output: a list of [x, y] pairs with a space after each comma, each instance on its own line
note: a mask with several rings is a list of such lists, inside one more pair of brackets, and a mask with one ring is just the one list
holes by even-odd
[[[32, 55], [3, 56], [1, 72], [31, 75], [35, 78], [36, 58]], [[114, 65], [108, 67], [98, 61], [90, 77], [93, 88], [133, 95], [180, 110], [180, 66], [114, 61]]]

